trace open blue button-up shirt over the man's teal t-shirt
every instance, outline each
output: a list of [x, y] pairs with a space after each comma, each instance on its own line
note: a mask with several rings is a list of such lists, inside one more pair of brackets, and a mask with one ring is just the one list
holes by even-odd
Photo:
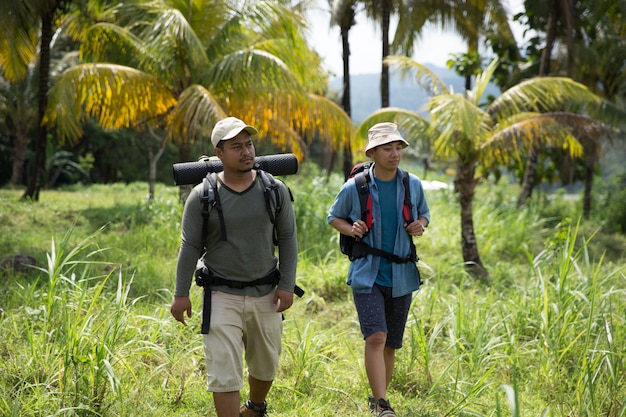
[[[372, 216], [374, 224], [369, 233], [364, 237], [363, 241], [371, 247], [382, 247], [382, 221], [380, 217], [380, 204], [378, 198], [378, 189], [376, 181], [374, 181], [373, 166], [368, 172], [370, 181], [368, 181], [369, 191], [372, 198]], [[404, 205], [404, 185], [402, 183], [402, 173], [398, 170], [396, 175], [396, 198], [397, 207]], [[412, 217], [417, 219], [425, 217], [430, 223], [430, 209], [424, 195], [424, 188], [420, 179], [409, 174], [409, 186], [411, 187], [411, 199], [413, 200]], [[401, 257], [410, 253], [410, 242], [412, 237], [404, 230], [404, 217], [402, 210], [398, 209], [398, 228], [396, 230], [396, 242], [393, 252]], [[361, 218], [361, 204], [359, 202], [359, 194], [354, 183], [354, 178], [350, 178], [341, 187], [333, 205], [328, 212], [327, 221], [332, 222], [336, 218], [357, 220]], [[348, 269], [347, 284], [357, 293], [369, 293], [372, 290], [378, 268], [380, 265], [380, 257], [368, 254], [363, 258], [355, 259], [350, 263]], [[392, 295], [393, 297], [401, 297], [409, 294], [419, 288], [420, 278], [417, 265], [414, 262], [391, 264], [392, 268]]]

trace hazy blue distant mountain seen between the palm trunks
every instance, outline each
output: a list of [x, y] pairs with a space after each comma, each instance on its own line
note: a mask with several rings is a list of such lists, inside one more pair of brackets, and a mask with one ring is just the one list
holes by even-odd
[[[429, 65], [428, 68], [439, 77], [448, 88], [455, 92], [462, 92], [465, 88], [465, 80], [454, 71], [447, 68]], [[428, 100], [428, 95], [412, 78], [405, 80], [397, 73], [389, 75], [389, 101], [390, 106], [416, 111], [424, 114], [423, 106]], [[359, 124], [367, 116], [380, 108], [380, 74], [358, 74], [350, 77], [352, 120]], [[330, 89], [337, 91], [341, 96], [343, 78], [332, 78]], [[486, 91], [487, 95], [498, 96], [500, 89], [495, 84], [490, 84]]]

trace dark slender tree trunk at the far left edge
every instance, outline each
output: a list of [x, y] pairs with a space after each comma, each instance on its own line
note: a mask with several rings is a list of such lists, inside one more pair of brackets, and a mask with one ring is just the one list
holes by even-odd
[[35, 140], [35, 156], [30, 162], [28, 169], [28, 180], [26, 191], [22, 199], [39, 201], [39, 191], [41, 190], [45, 165], [46, 165], [46, 145], [48, 142], [48, 131], [42, 123], [46, 107], [48, 106], [48, 83], [50, 80], [50, 42], [52, 41], [52, 20], [55, 9], [51, 8], [42, 13], [41, 16], [41, 45], [39, 48], [39, 94], [38, 94], [38, 118], [37, 137]]

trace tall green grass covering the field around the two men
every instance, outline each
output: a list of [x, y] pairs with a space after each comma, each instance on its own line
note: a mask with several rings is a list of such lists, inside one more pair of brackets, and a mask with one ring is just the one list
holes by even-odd
[[[326, 210], [342, 183], [304, 166], [287, 177], [298, 216], [298, 282], [285, 314], [272, 416], [368, 415], [363, 341], [348, 261]], [[181, 326], [169, 315], [182, 206], [175, 187], [0, 190], [0, 256], [38, 268], [0, 281], [0, 415], [215, 415], [199, 335], [201, 292]], [[623, 252], [577, 220], [575, 203], [515, 207], [481, 185], [475, 226], [486, 281], [462, 265], [458, 204], [430, 191], [416, 239], [415, 293], [390, 400], [399, 416], [626, 416]], [[611, 235], [614, 242], [623, 237]], [[244, 392], [245, 395], [245, 392]]]

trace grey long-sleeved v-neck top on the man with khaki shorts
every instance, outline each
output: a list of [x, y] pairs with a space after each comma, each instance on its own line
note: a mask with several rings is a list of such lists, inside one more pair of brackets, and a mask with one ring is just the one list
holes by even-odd
[[[279, 186], [281, 211], [276, 217], [278, 256], [272, 241], [274, 225], [265, 205], [263, 181], [257, 175], [252, 185], [243, 192], [233, 191], [218, 178], [218, 192], [224, 214], [227, 240], [221, 237], [217, 209], [209, 214], [205, 265], [216, 275], [233, 281], [254, 281], [278, 268], [281, 279], [278, 288], [294, 291], [298, 244], [296, 222], [290, 192]], [[202, 251], [202, 183], [193, 188], [182, 218], [181, 246], [176, 267], [175, 295], [188, 296], [197, 260]], [[273, 198], [272, 210], [274, 210]], [[230, 294], [261, 296], [272, 290], [271, 285], [235, 289], [212, 287]]]

